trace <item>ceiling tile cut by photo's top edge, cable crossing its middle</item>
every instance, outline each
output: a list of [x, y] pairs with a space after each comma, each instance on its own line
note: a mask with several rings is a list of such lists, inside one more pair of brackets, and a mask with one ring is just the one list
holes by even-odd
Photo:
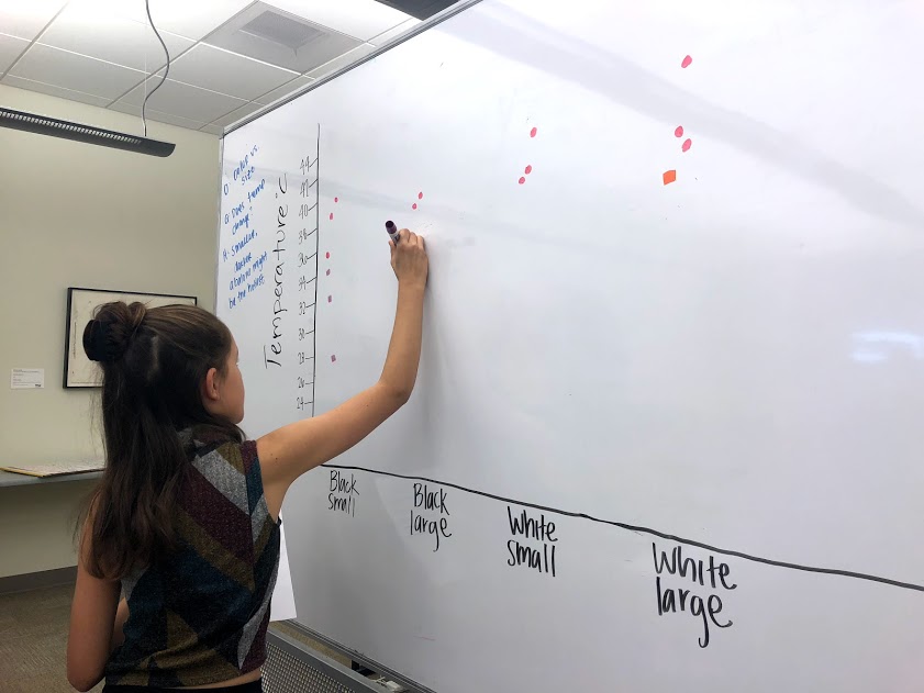
[[[22, 2], [31, 0], [21, 0]], [[151, 19], [158, 30], [199, 41], [253, 0], [152, 0]], [[92, 7], [142, 24], [147, 24], [144, 0], [71, 0], [70, 4]]]

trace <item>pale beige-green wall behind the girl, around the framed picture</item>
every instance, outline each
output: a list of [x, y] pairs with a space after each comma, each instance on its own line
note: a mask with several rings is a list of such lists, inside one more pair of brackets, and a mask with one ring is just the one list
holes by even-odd
[[[0, 86], [0, 105], [130, 133], [122, 113]], [[199, 297], [214, 306], [219, 138], [160, 123], [168, 158], [0, 128], [0, 460], [99, 456], [94, 390], [65, 390], [68, 287]], [[45, 389], [10, 390], [16, 367]], [[0, 577], [73, 566], [90, 485], [0, 489]]]

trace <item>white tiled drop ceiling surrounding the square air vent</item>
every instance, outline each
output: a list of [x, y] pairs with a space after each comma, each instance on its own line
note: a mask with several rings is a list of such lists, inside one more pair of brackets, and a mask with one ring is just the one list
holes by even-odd
[[[192, 1], [158, 0], [158, 3], [176, 9]], [[148, 101], [147, 112], [151, 120], [213, 134], [302, 89], [315, 78], [368, 55], [376, 46], [419, 23], [375, 0], [194, 2], [199, 13], [193, 13], [189, 27], [176, 16], [174, 21], [162, 22], [154, 14], [155, 25], [170, 49], [170, 74], [168, 82]], [[40, 18], [30, 16], [22, 7], [15, 10], [0, 7], [0, 45], [5, 43], [13, 53], [18, 46], [24, 46], [18, 56], [11, 58], [7, 54], [5, 59], [11, 59], [9, 66], [0, 62], [0, 81], [96, 105], [105, 102], [111, 110], [140, 114], [146, 89], [160, 81], [165, 66], [163, 47], [149, 26], [140, 21], [146, 19], [144, 1], [32, 0], [32, 3], [38, 8]], [[253, 13], [258, 4], [343, 36], [344, 47], [349, 47], [300, 74], [209, 43], [210, 36], [238, 14]], [[209, 11], [213, 13], [208, 15]], [[4, 30], [9, 26], [20, 35], [10, 34], [4, 42]], [[151, 69], [145, 70], [145, 66]], [[152, 76], [155, 70], [159, 75]]]

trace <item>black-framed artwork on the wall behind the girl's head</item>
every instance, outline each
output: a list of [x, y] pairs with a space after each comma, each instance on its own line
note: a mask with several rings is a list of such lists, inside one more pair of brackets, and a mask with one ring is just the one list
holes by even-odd
[[67, 333], [64, 350], [64, 387], [99, 388], [101, 376], [99, 365], [87, 358], [84, 353], [84, 328], [93, 318], [97, 308], [111, 301], [138, 301], [148, 308], [160, 305], [197, 305], [192, 295], [170, 295], [166, 293], [137, 293], [134, 291], [104, 291], [101, 289], [81, 289], [70, 287], [67, 290]]

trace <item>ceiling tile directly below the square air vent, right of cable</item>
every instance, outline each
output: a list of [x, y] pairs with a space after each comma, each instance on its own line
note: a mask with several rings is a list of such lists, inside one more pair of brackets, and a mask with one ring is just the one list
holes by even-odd
[[297, 77], [298, 72], [199, 44], [170, 67], [177, 81], [252, 101]]

